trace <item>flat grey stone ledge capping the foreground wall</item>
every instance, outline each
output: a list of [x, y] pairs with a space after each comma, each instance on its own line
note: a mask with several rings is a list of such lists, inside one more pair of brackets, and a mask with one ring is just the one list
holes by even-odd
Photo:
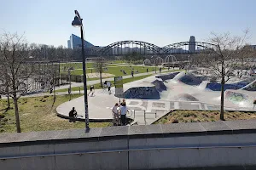
[[98, 127], [32, 133], [0, 134], [0, 147], [26, 144], [56, 144], [108, 139], [169, 138], [224, 134], [256, 133], [256, 120], [191, 122], [131, 127]]

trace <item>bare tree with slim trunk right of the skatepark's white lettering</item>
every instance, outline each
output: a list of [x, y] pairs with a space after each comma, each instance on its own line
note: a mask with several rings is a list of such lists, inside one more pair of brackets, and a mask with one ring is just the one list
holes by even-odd
[[235, 76], [234, 68], [239, 59], [247, 55], [247, 48], [245, 48], [247, 34], [247, 30], [241, 37], [231, 36], [230, 33], [212, 33], [209, 42], [215, 44], [215, 47], [206, 50], [204, 59], [201, 59], [204, 66], [212, 70], [212, 74], [221, 82], [221, 120], [224, 120], [224, 84]]

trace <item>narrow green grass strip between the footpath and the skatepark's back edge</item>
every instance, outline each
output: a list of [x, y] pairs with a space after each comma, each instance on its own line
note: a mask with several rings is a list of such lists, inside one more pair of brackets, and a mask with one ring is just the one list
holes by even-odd
[[[141, 80], [143, 78], [146, 78], [146, 77], [151, 77], [152, 75], [145, 75], [145, 76], [142, 76], [142, 77], [131, 77], [131, 78], [125, 78], [123, 79], [123, 83], [127, 83], [127, 82], [134, 82], [134, 81], [137, 81], [137, 80]], [[112, 84], [113, 84], [113, 81], [110, 81]], [[88, 89], [90, 88], [90, 86], [88, 86]], [[101, 87], [101, 83], [97, 83], [94, 85], [94, 88], [95, 89], [100, 89], [102, 88]], [[84, 90], [84, 87], [80, 87], [80, 90]], [[74, 87], [74, 88], [71, 88], [71, 91], [79, 91], [79, 87]], [[56, 90], [55, 92], [67, 92], [67, 88], [64, 88], [64, 89], [59, 89], [59, 90]]]

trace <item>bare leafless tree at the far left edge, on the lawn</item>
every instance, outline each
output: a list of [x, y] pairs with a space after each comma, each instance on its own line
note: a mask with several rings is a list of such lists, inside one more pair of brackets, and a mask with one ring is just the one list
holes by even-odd
[[15, 104], [15, 120], [17, 133], [20, 133], [20, 116], [18, 99], [26, 92], [26, 83], [29, 74], [26, 67], [26, 59], [28, 58], [28, 46], [23, 36], [4, 33], [0, 37], [0, 68], [2, 85], [8, 85], [9, 95]]

